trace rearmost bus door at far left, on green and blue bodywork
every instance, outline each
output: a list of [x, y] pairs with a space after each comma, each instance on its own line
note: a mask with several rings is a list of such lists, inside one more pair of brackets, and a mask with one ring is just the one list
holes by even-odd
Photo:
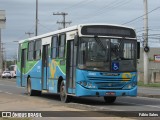
[[20, 82], [23, 87], [25, 86], [26, 58], [27, 49], [22, 49]]

